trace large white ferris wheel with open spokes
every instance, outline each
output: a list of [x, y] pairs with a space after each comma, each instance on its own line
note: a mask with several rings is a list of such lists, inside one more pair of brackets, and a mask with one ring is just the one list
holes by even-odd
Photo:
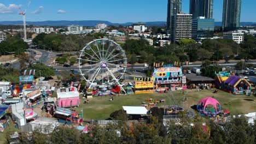
[[121, 87], [119, 80], [125, 73], [127, 58], [122, 47], [113, 40], [91, 41], [81, 50], [78, 61], [80, 75], [89, 88], [102, 88], [113, 84]]

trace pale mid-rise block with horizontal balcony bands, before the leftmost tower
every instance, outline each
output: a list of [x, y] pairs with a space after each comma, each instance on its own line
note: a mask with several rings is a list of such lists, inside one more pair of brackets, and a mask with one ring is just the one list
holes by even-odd
[[192, 38], [192, 15], [179, 13], [172, 16], [171, 40], [179, 41], [181, 39]]

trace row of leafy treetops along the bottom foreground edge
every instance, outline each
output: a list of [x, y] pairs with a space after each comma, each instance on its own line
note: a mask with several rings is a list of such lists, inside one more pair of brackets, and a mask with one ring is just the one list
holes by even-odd
[[[120, 110], [121, 111], [121, 110]], [[121, 114], [122, 112], [118, 112]], [[125, 116], [125, 115], [123, 115]], [[255, 143], [256, 121], [248, 124], [245, 116], [231, 118], [230, 122], [218, 124], [201, 117], [170, 120], [165, 125], [158, 116], [146, 122], [134, 123], [114, 118], [113, 124], [100, 127], [90, 124], [88, 133], [82, 133], [74, 125], [60, 125], [50, 134], [42, 128], [32, 133], [19, 134], [20, 143]], [[6, 137], [11, 142], [10, 133]]]

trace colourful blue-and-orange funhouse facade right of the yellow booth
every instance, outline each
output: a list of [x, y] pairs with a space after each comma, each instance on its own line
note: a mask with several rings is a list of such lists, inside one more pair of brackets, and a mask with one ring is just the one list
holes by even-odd
[[182, 67], [154, 68], [153, 79], [158, 88], [170, 88], [175, 91], [182, 87]]

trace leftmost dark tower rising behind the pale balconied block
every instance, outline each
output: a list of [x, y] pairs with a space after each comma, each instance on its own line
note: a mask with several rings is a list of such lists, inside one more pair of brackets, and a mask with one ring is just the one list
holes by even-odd
[[182, 11], [182, 0], [168, 0], [167, 5], [167, 21], [166, 21], [166, 33], [170, 34], [172, 16]]

